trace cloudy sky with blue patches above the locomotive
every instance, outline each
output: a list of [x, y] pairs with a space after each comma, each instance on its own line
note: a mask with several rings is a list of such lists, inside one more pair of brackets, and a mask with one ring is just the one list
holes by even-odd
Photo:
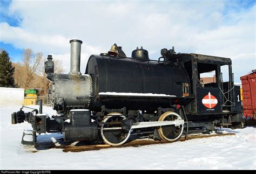
[[82, 71], [90, 54], [113, 43], [127, 55], [143, 46], [151, 59], [174, 46], [231, 58], [239, 81], [256, 68], [255, 1], [0, 1], [0, 48], [12, 61], [31, 48], [53, 54], [68, 72], [73, 38], [84, 41]]

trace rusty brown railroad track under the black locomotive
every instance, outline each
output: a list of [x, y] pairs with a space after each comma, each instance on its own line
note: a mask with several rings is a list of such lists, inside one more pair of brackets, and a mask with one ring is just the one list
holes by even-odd
[[[227, 133], [227, 134], [213, 134], [213, 135], [188, 135], [187, 138], [181, 137], [179, 140], [174, 142], [182, 142], [182, 141], [189, 141], [198, 138], [208, 138], [208, 137], [215, 137], [215, 136], [231, 136], [235, 135], [234, 133]], [[58, 140], [53, 140], [52, 142], [46, 143], [37, 143], [37, 146], [34, 148], [29, 148], [30, 152], [37, 152], [39, 150], [46, 150], [46, 149], [62, 149], [63, 152], [81, 152], [81, 151], [90, 151], [90, 150], [100, 150], [100, 149], [109, 149], [109, 148], [124, 148], [124, 147], [140, 147], [143, 145], [152, 145], [152, 144], [169, 144], [174, 143], [169, 141], [154, 141], [152, 139], [137, 139], [131, 140], [128, 143], [118, 145], [118, 146], [111, 146], [107, 144], [90, 144], [87, 142], [73, 142], [71, 144], [66, 143], [63, 141], [62, 138]]]

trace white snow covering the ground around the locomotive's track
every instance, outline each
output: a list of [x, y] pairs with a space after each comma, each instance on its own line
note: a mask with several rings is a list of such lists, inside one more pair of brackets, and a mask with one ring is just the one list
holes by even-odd
[[[30, 106], [35, 107], [35, 106]], [[38, 106], [36, 106], [38, 108]], [[32, 153], [21, 144], [30, 124], [11, 124], [19, 107], [0, 106], [0, 169], [256, 169], [256, 128], [221, 129], [231, 136], [209, 137], [170, 144], [63, 152], [62, 149]], [[30, 109], [24, 109], [28, 112]], [[56, 114], [51, 107], [43, 112]], [[55, 138], [52, 138], [55, 137]], [[54, 141], [61, 134], [39, 135], [38, 141]], [[51, 139], [52, 138], [52, 139]]]

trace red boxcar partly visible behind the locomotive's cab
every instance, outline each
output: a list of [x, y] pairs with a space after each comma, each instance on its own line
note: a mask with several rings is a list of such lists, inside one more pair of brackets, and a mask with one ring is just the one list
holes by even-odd
[[256, 119], [256, 69], [251, 73], [241, 76], [242, 81], [242, 106], [244, 116]]

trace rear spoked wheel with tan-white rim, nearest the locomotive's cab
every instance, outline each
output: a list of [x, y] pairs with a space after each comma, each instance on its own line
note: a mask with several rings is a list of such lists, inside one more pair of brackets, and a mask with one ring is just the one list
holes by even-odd
[[[158, 121], [175, 121], [182, 120], [181, 117], [174, 112], [166, 112], [161, 115]], [[175, 125], [167, 125], [167, 126], [159, 126], [158, 133], [162, 140], [166, 141], [176, 141], [180, 138], [183, 133], [184, 124], [179, 126]]]

